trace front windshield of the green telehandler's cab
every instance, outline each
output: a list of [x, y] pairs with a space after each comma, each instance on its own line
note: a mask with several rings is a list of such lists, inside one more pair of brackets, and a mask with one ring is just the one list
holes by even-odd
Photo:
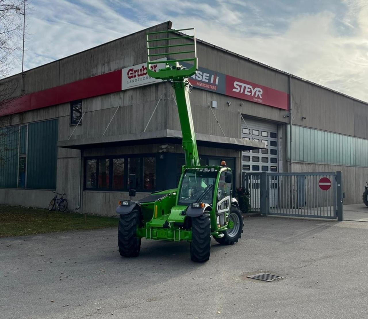
[[217, 177], [217, 169], [185, 170], [180, 186], [178, 205], [189, 205], [194, 202], [212, 204], [213, 189]]

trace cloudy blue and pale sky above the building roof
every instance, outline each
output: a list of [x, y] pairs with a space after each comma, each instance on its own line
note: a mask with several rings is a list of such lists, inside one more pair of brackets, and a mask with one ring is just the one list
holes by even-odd
[[[368, 0], [27, 0], [25, 70], [171, 20], [368, 102]], [[21, 71], [21, 52], [13, 71]], [[144, 61], [142, 61], [144, 62]]]

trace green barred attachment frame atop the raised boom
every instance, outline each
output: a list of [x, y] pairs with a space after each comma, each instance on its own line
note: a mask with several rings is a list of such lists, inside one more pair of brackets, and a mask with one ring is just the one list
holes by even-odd
[[[170, 37], [170, 34], [173, 34], [175, 32], [177, 33], [180, 31], [187, 31], [187, 33], [192, 32], [193, 34]], [[163, 37], [161, 37], [161, 35], [163, 35]], [[173, 40], [175, 40], [178, 43], [170, 44], [170, 41]], [[190, 41], [189, 43], [187, 43], [188, 40]], [[191, 42], [191, 40], [193, 40], [193, 42]], [[166, 41], [167, 44], [155, 46], [154, 44], [158, 41]], [[173, 52], [170, 52], [171, 48], [175, 48], [175, 50]], [[162, 50], [163, 52], [157, 53], [156, 51], [157, 49], [166, 49], [166, 50]], [[153, 53], [151, 53], [152, 50]], [[155, 79], [174, 80], [174, 81], [182, 81], [184, 78], [190, 77], [197, 71], [197, 64], [198, 64], [197, 46], [195, 41], [194, 28], [165, 30], [147, 33], [147, 53], [148, 53], [147, 72], [149, 76]], [[151, 69], [152, 64], [158, 64], [158, 61], [155, 60], [158, 57], [167, 57], [178, 54], [191, 54], [192, 57], [170, 59], [163, 62], [160, 61], [160, 64], [161, 63], [165, 64], [164, 68], [161, 68], [156, 72]], [[154, 61], [152, 61], [151, 58], [153, 58]], [[180, 65], [180, 62], [190, 62], [191, 64], [193, 64], [193, 66], [190, 68], [185, 68], [182, 65]]]

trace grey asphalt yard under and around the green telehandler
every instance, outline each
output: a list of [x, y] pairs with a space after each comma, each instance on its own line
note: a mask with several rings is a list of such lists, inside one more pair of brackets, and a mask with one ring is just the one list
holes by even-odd
[[[245, 219], [206, 263], [187, 242], [142, 240], [122, 258], [117, 230], [0, 238], [0, 318], [368, 318], [368, 223]], [[285, 276], [248, 279], [258, 272]]]

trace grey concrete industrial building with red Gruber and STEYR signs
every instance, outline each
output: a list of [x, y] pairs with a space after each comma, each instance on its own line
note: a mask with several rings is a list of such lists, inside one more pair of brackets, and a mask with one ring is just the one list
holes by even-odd
[[[146, 32], [167, 29], [0, 81], [0, 203], [47, 207], [56, 189], [69, 209], [111, 215], [128, 174], [137, 199], [176, 187], [184, 154], [174, 92], [145, 71]], [[345, 202], [361, 202], [367, 103], [198, 39], [197, 56], [190, 99], [202, 163], [226, 160], [234, 187], [252, 171], [341, 170]]]

